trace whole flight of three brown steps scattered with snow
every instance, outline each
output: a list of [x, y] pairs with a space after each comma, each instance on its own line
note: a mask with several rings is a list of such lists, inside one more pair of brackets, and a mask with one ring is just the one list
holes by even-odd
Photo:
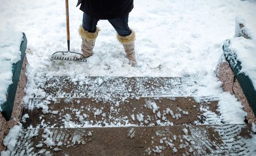
[[12, 155], [250, 155], [251, 125], [220, 125], [202, 78], [51, 77], [37, 86], [45, 97], [29, 100]]

